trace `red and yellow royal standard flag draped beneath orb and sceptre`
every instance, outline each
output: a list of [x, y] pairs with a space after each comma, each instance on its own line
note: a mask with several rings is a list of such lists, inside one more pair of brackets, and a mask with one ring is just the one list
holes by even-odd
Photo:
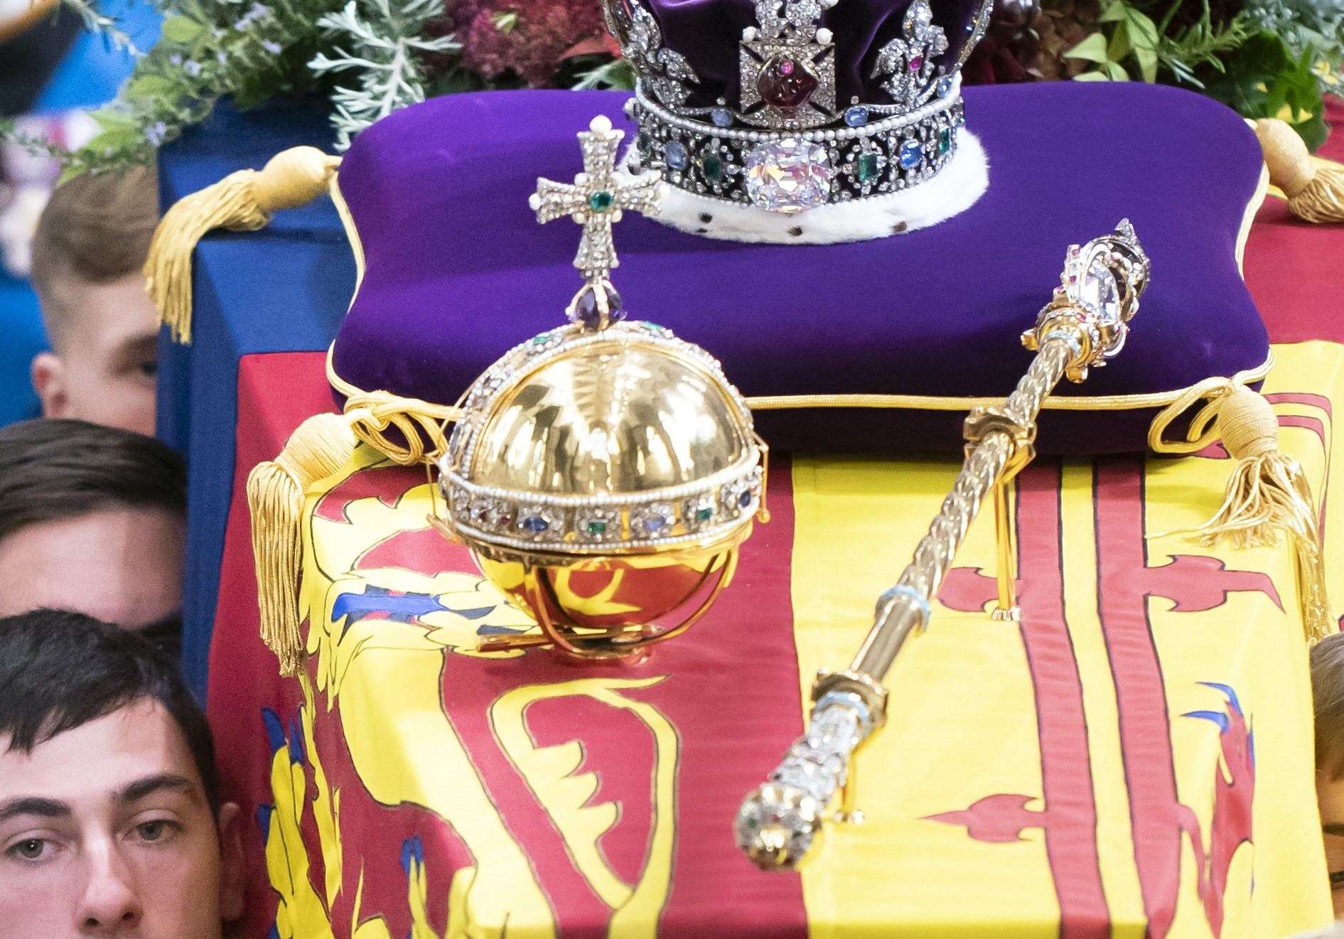
[[[1265, 391], [1322, 497], [1335, 574], [1344, 347], [1274, 353]], [[277, 394], [308, 359], [243, 361], [242, 394], [269, 402], [281, 438], [313, 410]], [[423, 472], [360, 449], [308, 493], [308, 665], [280, 678], [257, 638], [246, 524], [233, 525], [211, 712], [265, 849], [257, 935], [1285, 936], [1327, 923], [1292, 553], [1164, 533], [1220, 502], [1216, 446], [1028, 467], [1013, 497], [1021, 622], [986, 613], [982, 519], [888, 677], [888, 724], [859, 755], [864, 823], [829, 825], [801, 873], [739, 853], [742, 797], [802, 729], [814, 672], [851, 658], [957, 467], [781, 461], [771, 521], [731, 588], [626, 666], [476, 652], [530, 621], [429, 524]]]

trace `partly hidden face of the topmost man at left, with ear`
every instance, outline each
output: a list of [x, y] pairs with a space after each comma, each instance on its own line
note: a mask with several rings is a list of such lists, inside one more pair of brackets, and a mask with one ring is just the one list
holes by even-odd
[[44, 418], [155, 433], [159, 324], [136, 271], [109, 283], [63, 282], [55, 352], [32, 360]]

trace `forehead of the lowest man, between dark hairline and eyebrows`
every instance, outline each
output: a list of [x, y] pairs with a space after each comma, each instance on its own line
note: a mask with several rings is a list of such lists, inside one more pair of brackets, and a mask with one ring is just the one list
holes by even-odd
[[23, 752], [0, 737], [0, 801], [105, 799], [152, 775], [180, 775], [199, 790], [185, 736], [157, 701], [141, 699]]

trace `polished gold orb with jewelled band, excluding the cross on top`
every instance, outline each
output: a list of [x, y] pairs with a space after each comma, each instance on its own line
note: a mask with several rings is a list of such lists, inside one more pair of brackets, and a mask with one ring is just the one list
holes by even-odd
[[707, 352], [648, 322], [567, 325], [468, 390], [445, 528], [554, 643], [624, 657], [703, 615], [765, 520], [767, 449]]

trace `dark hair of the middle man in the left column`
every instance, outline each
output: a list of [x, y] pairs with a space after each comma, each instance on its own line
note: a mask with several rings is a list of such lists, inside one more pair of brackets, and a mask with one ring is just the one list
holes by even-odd
[[108, 508], [185, 512], [181, 457], [152, 437], [86, 420], [0, 427], [0, 539]]

